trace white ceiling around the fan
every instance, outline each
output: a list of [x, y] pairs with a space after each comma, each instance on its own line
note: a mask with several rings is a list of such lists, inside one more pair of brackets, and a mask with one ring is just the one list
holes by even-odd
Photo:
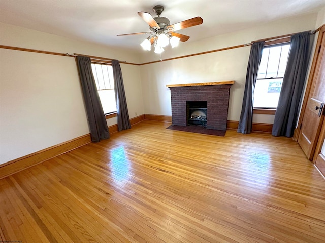
[[161, 16], [171, 24], [200, 16], [203, 24], [179, 30], [188, 42], [268, 21], [316, 13], [324, 0], [0, 0], [0, 22], [109, 46], [140, 49], [147, 35], [117, 34], [149, 31], [137, 12]]

